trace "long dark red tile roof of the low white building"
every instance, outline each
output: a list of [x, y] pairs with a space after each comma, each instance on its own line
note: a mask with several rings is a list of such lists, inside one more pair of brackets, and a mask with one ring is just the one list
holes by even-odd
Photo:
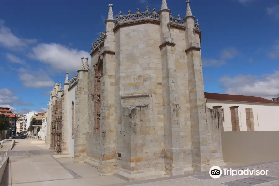
[[246, 96], [246, 95], [217, 94], [217, 93], [205, 92], [204, 96], [207, 100], [243, 101], [243, 102], [253, 102], [253, 103], [279, 104], [276, 101], [264, 99], [261, 97]]

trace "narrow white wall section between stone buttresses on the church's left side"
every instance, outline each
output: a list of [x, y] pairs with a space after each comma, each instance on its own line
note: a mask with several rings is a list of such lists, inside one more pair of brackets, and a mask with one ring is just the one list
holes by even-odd
[[69, 90], [69, 103], [68, 103], [68, 121], [69, 121], [69, 129], [68, 129], [68, 137], [69, 137], [69, 153], [71, 154], [71, 157], [74, 157], [74, 144], [75, 144], [75, 140], [74, 138], [72, 138], [72, 101], [75, 102], [75, 88], [77, 87], [77, 84], [75, 86], [73, 86], [70, 90]]

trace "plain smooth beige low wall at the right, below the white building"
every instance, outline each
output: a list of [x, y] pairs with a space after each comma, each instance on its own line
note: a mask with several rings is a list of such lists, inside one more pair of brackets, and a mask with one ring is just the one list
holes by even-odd
[[279, 131], [222, 132], [223, 160], [253, 164], [279, 160]]

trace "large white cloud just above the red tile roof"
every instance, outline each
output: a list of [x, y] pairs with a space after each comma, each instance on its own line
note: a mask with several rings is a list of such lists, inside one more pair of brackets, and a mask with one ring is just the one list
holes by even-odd
[[259, 96], [272, 99], [279, 96], [279, 71], [273, 74], [224, 76], [219, 79], [227, 94]]

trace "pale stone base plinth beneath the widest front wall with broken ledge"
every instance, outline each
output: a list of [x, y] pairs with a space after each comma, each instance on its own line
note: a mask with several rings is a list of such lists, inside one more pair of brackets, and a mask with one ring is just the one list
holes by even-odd
[[166, 172], [164, 170], [161, 170], [161, 171], [158, 170], [158, 171], [153, 171], [153, 172], [129, 171], [129, 170], [125, 170], [120, 167], [117, 167], [113, 171], [113, 175], [120, 179], [124, 179], [125, 181], [131, 182], [131, 181], [139, 181], [139, 180], [166, 177]]

